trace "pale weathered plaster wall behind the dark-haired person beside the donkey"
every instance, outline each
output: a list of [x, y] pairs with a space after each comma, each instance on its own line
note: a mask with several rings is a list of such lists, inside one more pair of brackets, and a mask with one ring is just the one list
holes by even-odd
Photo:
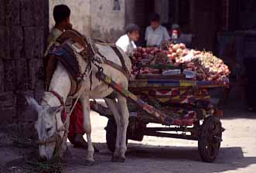
[[[114, 9], [114, 2], [120, 8]], [[55, 0], [49, 1], [49, 28], [54, 25], [53, 8], [65, 4], [71, 9], [73, 28], [97, 39], [115, 42], [125, 31], [125, 0]]]

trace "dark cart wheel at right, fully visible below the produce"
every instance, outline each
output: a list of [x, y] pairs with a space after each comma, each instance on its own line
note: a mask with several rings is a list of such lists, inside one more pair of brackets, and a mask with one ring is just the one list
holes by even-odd
[[217, 117], [207, 117], [200, 127], [198, 150], [203, 161], [212, 162], [217, 158], [222, 141], [222, 127]]

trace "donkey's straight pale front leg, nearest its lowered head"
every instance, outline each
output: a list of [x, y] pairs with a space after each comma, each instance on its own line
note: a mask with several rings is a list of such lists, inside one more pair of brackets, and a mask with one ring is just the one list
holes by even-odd
[[88, 142], [88, 149], [87, 149], [87, 166], [94, 165], [94, 146], [91, 141], [91, 124], [90, 124], [90, 97], [87, 94], [84, 94], [80, 97], [80, 101], [83, 107], [83, 114], [84, 114], [84, 131], [87, 134], [87, 142]]

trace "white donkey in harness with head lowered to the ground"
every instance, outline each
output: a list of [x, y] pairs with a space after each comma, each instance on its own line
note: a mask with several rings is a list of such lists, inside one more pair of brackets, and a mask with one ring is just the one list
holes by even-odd
[[[121, 61], [118, 58], [117, 54], [111, 49], [110, 46], [102, 46], [100, 44], [96, 44], [99, 53], [104, 55], [111, 62], [117, 63], [121, 66]], [[125, 53], [119, 49], [121, 55], [125, 59], [125, 65], [128, 70], [131, 72], [131, 61]], [[81, 71], [84, 72], [87, 63], [80, 56], [80, 54], [76, 53], [78, 60], [81, 64]], [[121, 71], [109, 66], [105, 63], [101, 63], [100, 66], [103, 68], [104, 73], [107, 76], [110, 76], [112, 80], [118, 83], [120, 86], [124, 87], [128, 90], [128, 77], [125, 76]], [[111, 93], [113, 93], [113, 89], [107, 86], [103, 81], [100, 81], [96, 78], [95, 73], [97, 73], [96, 66], [92, 66], [92, 83], [90, 83], [89, 78], [82, 82], [82, 87], [80, 91], [75, 94], [77, 97], [78, 93], [80, 94], [80, 102], [83, 107], [84, 114], [84, 130], [87, 134], [87, 163], [86, 165], [94, 165], [94, 147], [92, 144], [92, 140], [90, 137], [91, 134], [91, 125], [90, 125], [90, 99], [99, 99], [105, 98]], [[87, 70], [87, 76], [89, 76]], [[90, 90], [91, 85], [91, 90]], [[64, 68], [62, 63], [57, 63], [57, 67], [55, 72], [53, 73], [53, 78], [49, 85], [49, 91], [45, 92], [43, 95], [43, 100], [40, 104], [36, 103], [36, 100], [29, 97], [27, 98], [29, 105], [34, 107], [34, 109], [38, 112], [38, 120], [36, 121], [36, 131], [38, 133], [39, 141], [44, 141], [39, 145], [39, 156], [43, 159], [51, 159], [53, 158], [53, 153], [56, 150], [57, 142], [54, 142], [54, 137], [59, 136], [63, 138], [64, 131], [60, 128], [63, 127], [63, 122], [61, 120], [61, 110], [63, 109], [62, 100], [58, 96], [63, 97], [63, 102], [67, 100], [68, 94], [71, 89], [71, 80], [70, 75], [67, 70]], [[54, 93], [53, 93], [54, 92]], [[126, 147], [126, 131], [128, 127], [128, 107], [127, 100], [120, 93], [117, 93], [117, 100], [111, 100], [105, 98], [105, 101], [109, 107], [109, 109], [114, 114], [114, 119], [117, 123], [117, 140], [115, 144], [115, 151], [112, 157], [112, 161], [115, 162], [124, 162], [125, 161], [125, 152], [127, 150]], [[57, 134], [57, 135], [56, 135]], [[53, 139], [53, 141], [49, 140]], [[56, 141], [56, 140], [55, 140]], [[66, 141], [65, 141], [66, 144]], [[62, 146], [62, 150], [65, 150], [67, 145]]]

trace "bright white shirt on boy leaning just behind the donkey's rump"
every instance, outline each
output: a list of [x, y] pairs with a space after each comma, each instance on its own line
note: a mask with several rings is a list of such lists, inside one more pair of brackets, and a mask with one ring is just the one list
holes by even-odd
[[125, 34], [124, 36], [121, 36], [117, 42], [115, 42], [115, 45], [120, 47], [125, 51], [126, 54], [131, 55], [133, 53], [133, 50], [137, 48], [134, 41], [131, 41], [129, 39], [128, 35]]

